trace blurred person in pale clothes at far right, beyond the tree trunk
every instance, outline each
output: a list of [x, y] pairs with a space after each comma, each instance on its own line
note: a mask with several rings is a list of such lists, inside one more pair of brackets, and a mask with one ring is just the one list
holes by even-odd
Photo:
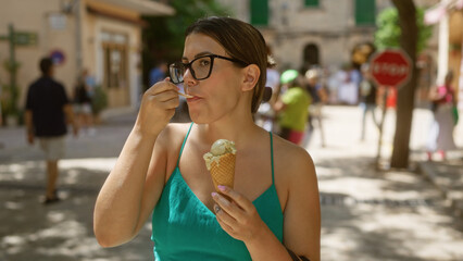
[[456, 99], [452, 87], [453, 72], [446, 75], [443, 85], [433, 88], [429, 92], [434, 123], [429, 133], [427, 158], [433, 160], [433, 153], [438, 151], [442, 160], [446, 160], [446, 152], [456, 148], [453, 140], [453, 128], [456, 124], [454, 109]]

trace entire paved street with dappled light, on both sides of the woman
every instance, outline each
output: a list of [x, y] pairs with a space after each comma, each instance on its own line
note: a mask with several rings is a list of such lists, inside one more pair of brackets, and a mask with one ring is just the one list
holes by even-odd
[[[317, 130], [306, 146], [318, 175], [323, 260], [463, 260], [463, 220], [451, 214], [441, 190], [415, 172], [417, 164], [410, 171], [376, 171], [377, 130], [370, 122], [366, 140], [360, 141], [360, 109], [326, 107], [324, 115], [326, 147]], [[427, 110], [415, 110], [413, 162], [424, 160], [430, 119]], [[112, 119], [96, 136], [68, 137], [60, 164], [64, 200], [47, 207], [39, 203], [40, 150], [25, 144], [23, 129], [0, 128], [1, 261], [152, 260], [149, 224], [133, 241], [112, 249], [99, 247], [92, 235], [96, 196], [133, 121], [134, 115]], [[391, 153], [393, 124], [390, 111], [384, 162]], [[450, 153], [449, 162], [461, 169], [462, 123], [455, 133], [460, 151]]]

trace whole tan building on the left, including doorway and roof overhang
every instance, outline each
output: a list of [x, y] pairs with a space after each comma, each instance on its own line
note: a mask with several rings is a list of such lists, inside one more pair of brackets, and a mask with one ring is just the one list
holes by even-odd
[[[38, 62], [52, 57], [55, 78], [72, 95], [83, 70], [95, 76], [108, 95], [109, 108], [134, 109], [140, 92], [141, 15], [173, 15], [175, 11], [149, 0], [0, 0], [0, 62], [11, 60], [7, 39], [11, 27], [25, 37], [14, 45], [20, 64], [16, 85], [23, 107], [28, 85], [40, 76]], [[0, 85], [10, 85], [0, 67]], [[2, 97], [8, 99], [9, 88]]]

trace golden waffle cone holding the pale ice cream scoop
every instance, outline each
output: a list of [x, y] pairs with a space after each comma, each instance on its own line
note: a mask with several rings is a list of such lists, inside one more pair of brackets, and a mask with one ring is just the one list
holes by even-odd
[[223, 185], [233, 188], [235, 182], [235, 160], [236, 154], [226, 153], [221, 156], [217, 162], [211, 164], [212, 182], [216, 191], [220, 191], [217, 186]]

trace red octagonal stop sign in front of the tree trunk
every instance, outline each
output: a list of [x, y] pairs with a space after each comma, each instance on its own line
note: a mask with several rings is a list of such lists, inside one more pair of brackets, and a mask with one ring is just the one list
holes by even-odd
[[373, 79], [383, 86], [400, 87], [411, 74], [409, 55], [401, 50], [386, 50], [373, 55], [371, 72]]

